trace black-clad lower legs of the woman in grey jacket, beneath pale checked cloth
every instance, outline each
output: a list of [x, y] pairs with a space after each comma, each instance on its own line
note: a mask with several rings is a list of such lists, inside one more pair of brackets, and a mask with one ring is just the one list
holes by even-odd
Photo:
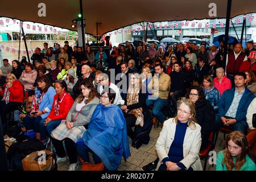
[[[63, 141], [57, 140], [55, 138], [50, 137], [53, 146], [55, 147], [55, 150], [57, 152], [57, 156], [59, 158], [64, 158], [66, 156], [65, 149], [63, 146]], [[77, 152], [76, 152], [76, 144], [73, 142], [70, 138], [64, 139], [65, 147], [68, 153], [69, 163], [77, 163]]]

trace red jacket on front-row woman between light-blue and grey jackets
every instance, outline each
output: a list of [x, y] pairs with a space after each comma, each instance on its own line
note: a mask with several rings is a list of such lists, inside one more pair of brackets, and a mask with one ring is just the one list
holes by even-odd
[[[60, 96], [60, 98], [63, 97], [64, 93], [66, 92], [64, 91], [63, 94]], [[59, 115], [55, 115], [55, 103], [58, 102], [58, 100], [59, 100], [59, 95], [56, 94], [53, 98], [51, 113], [49, 113], [47, 118], [51, 118], [52, 120], [66, 119], [68, 112], [74, 103], [73, 98], [68, 93], [66, 93], [65, 97], [63, 98], [63, 101], [60, 102]]]

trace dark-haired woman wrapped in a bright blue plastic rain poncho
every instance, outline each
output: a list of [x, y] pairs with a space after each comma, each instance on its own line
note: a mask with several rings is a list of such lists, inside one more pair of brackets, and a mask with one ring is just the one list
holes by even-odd
[[94, 163], [102, 162], [110, 171], [118, 169], [122, 156], [130, 156], [125, 118], [119, 106], [112, 105], [114, 99], [115, 92], [110, 88], [101, 94], [101, 104], [94, 110], [88, 130], [76, 143], [82, 160], [89, 163], [92, 152]]

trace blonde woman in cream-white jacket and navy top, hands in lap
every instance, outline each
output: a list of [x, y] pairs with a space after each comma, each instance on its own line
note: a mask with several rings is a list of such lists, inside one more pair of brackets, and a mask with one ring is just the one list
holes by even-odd
[[201, 127], [196, 123], [195, 115], [193, 102], [183, 99], [177, 109], [177, 116], [164, 122], [155, 145], [159, 171], [203, 169], [199, 158]]

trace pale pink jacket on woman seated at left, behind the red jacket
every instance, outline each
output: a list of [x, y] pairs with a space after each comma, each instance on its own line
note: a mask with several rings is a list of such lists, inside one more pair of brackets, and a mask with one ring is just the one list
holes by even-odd
[[32, 89], [32, 86], [36, 80], [36, 76], [38, 73], [35, 71], [35, 69], [32, 70], [32, 72], [27, 73], [26, 71], [22, 72], [22, 75], [19, 78], [19, 81], [24, 85], [24, 88]]

